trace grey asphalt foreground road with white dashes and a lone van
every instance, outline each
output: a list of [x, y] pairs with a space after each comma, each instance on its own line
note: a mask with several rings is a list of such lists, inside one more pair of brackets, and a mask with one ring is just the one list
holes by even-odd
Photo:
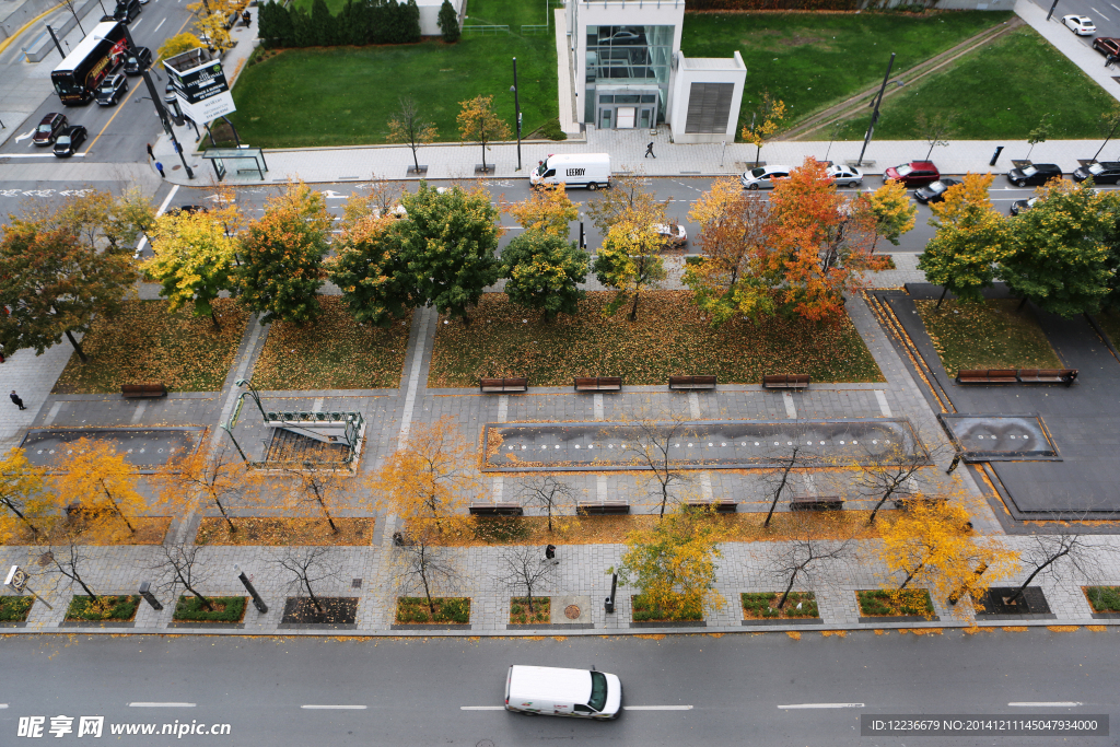
[[[1109, 715], [1120, 729], [1116, 632], [914, 636], [804, 633], [547, 638], [13, 636], [2, 645], [0, 744], [20, 717], [111, 725], [228, 723], [228, 736], [120, 736], [121, 744], [915, 745], [860, 736], [860, 715]], [[512, 663], [618, 674], [613, 722], [505, 712]], [[19, 676], [12, 674], [19, 673]], [[1056, 704], [1058, 703], [1058, 704]], [[1074, 704], [1071, 704], [1074, 703]], [[348, 707], [348, 708], [345, 708]], [[84, 737], [82, 738], [84, 739]], [[486, 740], [489, 740], [487, 743]], [[84, 744], [78, 741], [77, 744]], [[94, 743], [96, 744], [96, 743]], [[939, 737], [937, 745], [1116, 745], [1113, 737]]]

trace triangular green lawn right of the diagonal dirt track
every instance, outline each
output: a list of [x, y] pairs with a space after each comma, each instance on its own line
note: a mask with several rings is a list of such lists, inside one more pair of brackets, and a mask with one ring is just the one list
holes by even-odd
[[[955, 130], [950, 139], [1025, 140], [1047, 112], [1054, 115], [1049, 139], [1095, 138], [1101, 112], [1114, 104], [1112, 96], [1034, 29], [1021, 28], [887, 99], [875, 137], [920, 138], [914, 118], [925, 111], [927, 116], [953, 114]], [[841, 138], [861, 140], [869, 119], [867, 114], [852, 120]], [[1046, 146], [1034, 152], [1036, 159], [1045, 160]], [[935, 149], [934, 160], [936, 155]]]

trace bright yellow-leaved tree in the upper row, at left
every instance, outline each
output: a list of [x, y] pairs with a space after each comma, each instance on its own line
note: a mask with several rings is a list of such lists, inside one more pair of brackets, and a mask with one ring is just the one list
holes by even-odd
[[153, 256], [144, 262], [144, 273], [160, 287], [159, 295], [175, 311], [187, 304], [196, 317], [209, 317], [215, 328], [222, 325], [214, 312], [214, 301], [235, 288], [237, 250], [235, 235], [241, 215], [224, 189], [211, 213], [177, 211], [160, 216], [151, 235]]

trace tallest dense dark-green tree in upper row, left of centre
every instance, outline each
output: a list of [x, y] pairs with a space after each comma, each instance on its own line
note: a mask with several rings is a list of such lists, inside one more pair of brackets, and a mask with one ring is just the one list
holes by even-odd
[[455, 186], [440, 194], [421, 181], [402, 203], [409, 217], [395, 231], [417, 302], [469, 323], [467, 307], [478, 304], [502, 272], [495, 256], [502, 232], [489, 193]]

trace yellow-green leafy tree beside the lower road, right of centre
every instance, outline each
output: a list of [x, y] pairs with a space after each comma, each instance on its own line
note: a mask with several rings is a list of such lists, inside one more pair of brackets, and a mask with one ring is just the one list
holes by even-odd
[[715, 587], [724, 535], [710, 508], [678, 506], [653, 526], [626, 536], [618, 579], [641, 589], [648, 604], [670, 618], [722, 607]]

